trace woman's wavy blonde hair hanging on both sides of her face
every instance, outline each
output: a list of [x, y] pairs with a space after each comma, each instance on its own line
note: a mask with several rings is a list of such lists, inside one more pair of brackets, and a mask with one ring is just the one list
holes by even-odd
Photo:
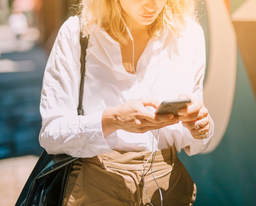
[[[117, 4], [130, 28], [127, 15], [122, 11], [119, 2]], [[78, 11], [83, 35], [90, 34], [92, 26], [97, 24], [98, 28], [102, 26], [119, 44], [126, 45], [129, 37], [126, 26], [121, 21], [117, 4], [115, 0], [80, 0]], [[166, 26], [174, 35], [180, 36], [186, 26], [185, 18], [196, 20], [195, 4], [195, 0], [167, 0], [166, 9], [164, 8], [150, 25], [148, 34], [158, 37]]]

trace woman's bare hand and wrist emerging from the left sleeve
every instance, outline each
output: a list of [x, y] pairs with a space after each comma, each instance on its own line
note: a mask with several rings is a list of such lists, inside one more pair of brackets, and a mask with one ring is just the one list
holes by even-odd
[[146, 109], [146, 106], [157, 109], [159, 102], [155, 99], [141, 98], [104, 110], [102, 114], [103, 135], [106, 137], [118, 129], [132, 133], [144, 133], [179, 123], [178, 117], [174, 117], [173, 114], [157, 115]]

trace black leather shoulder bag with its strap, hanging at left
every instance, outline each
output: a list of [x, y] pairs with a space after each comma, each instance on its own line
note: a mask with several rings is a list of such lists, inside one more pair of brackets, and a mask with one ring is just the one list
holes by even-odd
[[[81, 84], [78, 114], [82, 115], [85, 56], [88, 38], [80, 35]], [[72, 163], [78, 158], [66, 154], [49, 155], [44, 150], [30, 174], [16, 206], [61, 206]]]

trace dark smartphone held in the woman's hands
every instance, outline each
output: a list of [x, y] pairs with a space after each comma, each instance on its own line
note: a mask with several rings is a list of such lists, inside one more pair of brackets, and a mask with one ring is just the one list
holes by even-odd
[[191, 99], [163, 101], [157, 110], [155, 110], [155, 114], [173, 114], [174, 116], [178, 116], [179, 110], [186, 108], [190, 103]]

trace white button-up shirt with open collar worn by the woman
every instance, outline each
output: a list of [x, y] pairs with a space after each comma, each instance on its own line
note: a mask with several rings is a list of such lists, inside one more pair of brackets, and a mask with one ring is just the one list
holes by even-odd
[[[166, 32], [165, 37], [162, 33], [159, 38], [149, 40], [136, 68], [143, 81], [126, 72], [119, 43], [103, 28], [95, 28], [90, 33], [86, 55], [84, 114], [78, 116], [81, 81], [79, 35], [79, 18], [70, 17], [58, 32], [45, 69], [39, 141], [48, 153], [85, 158], [112, 152], [112, 149], [152, 151], [158, 130], [144, 134], [117, 130], [104, 137], [101, 126], [103, 110], [145, 96], [154, 97], [159, 102], [177, 99], [181, 93], [203, 99], [205, 43], [202, 28], [196, 22], [187, 20], [182, 37], [173, 38]], [[175, 145], [179, 152], [184, 148], [188, 155], [199, 153], [207, 148], [213, 135], [211, 118], [210, 122], [211, 129], [202, 140], [193, 138], [181, 122], [164, 127], [159, 131], [157, 148]], [[188, 145], [190, 149], [185, 148]]]

